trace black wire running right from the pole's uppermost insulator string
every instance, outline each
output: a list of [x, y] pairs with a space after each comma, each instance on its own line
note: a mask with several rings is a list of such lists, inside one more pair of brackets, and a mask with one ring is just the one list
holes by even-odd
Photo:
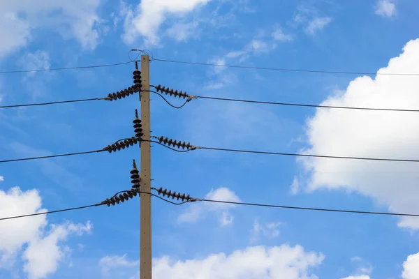
[[288, 105], [294, 107], [321, 107], [321, 108], [330, 108], [330, 109], [344, 109], [344, 110], [381, 110], [388, 112], [419, 112], [419, 110], [406, 110], [406, 109], [383, 109], [376, 107], [343, 107], [343, 106], [334, 106], [334, 105], [309, 105], [309, 104], [297, 104], [297, 103], [277, 103], [277, 102], [265, 102], [260, 100], [243, 100], [243, 99], [231, 99], [231, 98], [218, 98], [211, 96], [196, 96], [201, 99], [209, 100], [226, 100], [232, 102], [241, 102], [241, 103], [255, 103], [255, 104], [265, 104], [265, 105]]

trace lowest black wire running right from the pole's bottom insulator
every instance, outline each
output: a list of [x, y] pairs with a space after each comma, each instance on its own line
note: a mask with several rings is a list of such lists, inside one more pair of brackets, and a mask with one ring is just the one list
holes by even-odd
[[316, 207], [283, 206], [283, 205], [275, 205], [275, 204], [254, 204], [254, 203], [249, 203], [249, 202], [227, 202], [227, 201], [221, 201], [221, 200], [216, 200], [216, 199], [196, 199], [196, 201], [216, 202], [216, 203], [221, 203], [221, 204], [274, 207], [274, 208], [279, 208], [279, 209], [298, 209], [298, 210], [308, 210], [308, 211], [329, 211], [329, 212], [338, 212], [338, 213], [358, 213], [358, 214], [371, 214], [371, 215], [419, 217], [419, 214], [413, 214], [413, 213], [391, 213], [391, 212], [381, 212], [381, 211], [359, 211], [359, 210], [344, 210], [344, 209], [321, 209], [321, 208], [316, 208]]

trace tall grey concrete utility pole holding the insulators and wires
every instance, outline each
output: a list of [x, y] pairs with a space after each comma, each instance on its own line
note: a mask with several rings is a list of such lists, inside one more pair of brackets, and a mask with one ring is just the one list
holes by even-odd
[[[151, 193], [151, 146], [150, 146], [150, 73], [149, 56], [141, 56], [140, 92], [142, 142], [141, 153], [141, 191]], [[152, 279], [152, 196], [142, 193], [140, 195], [140, 278]]]

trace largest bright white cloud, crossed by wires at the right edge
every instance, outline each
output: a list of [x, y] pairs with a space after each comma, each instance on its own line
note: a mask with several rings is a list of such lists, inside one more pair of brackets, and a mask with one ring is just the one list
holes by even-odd
[[[419, 39], [390, 59], [378, 73], [419, 73]], [[358, 77], [346, 91], [322, 105], [417, 109], [419, 80], [413, 76]], [[419, 158], [419, 119], [411, 112], [318, 109], [307, 121], [307, 153], [335, 156]], [[308, 190], [344, 188], [374, 198], [393, 212], [418, 212], [418, 165], [360, 160], [304, 158]], [[402, 218], [399, 227], [419, 228]]]

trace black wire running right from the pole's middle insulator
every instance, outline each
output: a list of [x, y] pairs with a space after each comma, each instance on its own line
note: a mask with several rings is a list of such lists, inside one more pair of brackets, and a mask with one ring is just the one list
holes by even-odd
[[256, 153], [256, 154], [279, 155], [279, 156], [297, 156], [297, 157], [315, 157], [315, 158], [333, 158], [333, 159], [374, 160], [374, 161], [419, 163], [419, 160], [411, 160], [411, 159], [367, 158], [367, 157], [351, 157], [351, 156], [327, 156], [327, 155], [313, 155], [313, 154], [303, 154], [303, 153], [280, 153], [280, 152], [253, 151], [253, 150], [240, 150], [240, 149], [221, 149], [221, 148], [216, 148], [216, 147], [205, 147], [205, 146], [200, 146], [200, 147], [198, 147], [198, 149], [207, 149], [207, 150], [215, 150], [215, 151], [230, 151], [230, 152], [240, 152], [240, 153]]

